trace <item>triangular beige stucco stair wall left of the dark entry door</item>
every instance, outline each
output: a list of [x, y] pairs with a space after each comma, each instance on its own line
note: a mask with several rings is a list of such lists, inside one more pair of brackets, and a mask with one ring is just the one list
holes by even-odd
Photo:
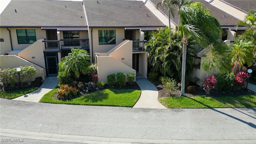
[[45, 68], [42, 40], [34, 42], [34, 44], [31, 44], [20, 53], [18, 53], [18, 56]]

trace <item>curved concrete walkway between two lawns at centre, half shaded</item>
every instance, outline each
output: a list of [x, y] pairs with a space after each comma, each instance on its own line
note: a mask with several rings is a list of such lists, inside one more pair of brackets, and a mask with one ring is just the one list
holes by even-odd
[[133, 108], [166, 108], [158, 102], [158, 90], [150, 81], [136, 78], [136, 83], [140, 86], [141, 94]]

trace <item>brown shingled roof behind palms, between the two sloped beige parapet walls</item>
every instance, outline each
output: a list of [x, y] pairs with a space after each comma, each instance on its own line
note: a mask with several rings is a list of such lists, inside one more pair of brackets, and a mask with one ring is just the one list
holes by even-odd
[[[161, 0], [151, 0], [153, 4], [157, 4], [158, 2], [162, 2]], [[234, 16], [231, 16], [230, 14], [216, 8], [215, 6], [212, 6], [211, 4], [208, 4], [208, 2], [204, 0], [193, 0], [192, 2], [201, 2], [202, 6], [204, 8], [209, 8], [212, 15], [214, 15], [218, 21], [220, 22], [220, 25], [222, 26], [236, 26], [237, 23], [240, 21]], [[167, 17], [168, 17], [168, 10], [159, 8]], [[177, 25], [178, 24], [178, 13], [176, 12], [176, 15], [174, 18], [171, 18], [172, 21]]]

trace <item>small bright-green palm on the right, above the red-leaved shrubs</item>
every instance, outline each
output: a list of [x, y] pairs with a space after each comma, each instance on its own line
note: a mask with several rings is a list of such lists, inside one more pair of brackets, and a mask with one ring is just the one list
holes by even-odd
[[233, 73], [236, 71], [238, 63], [242, 67], [245, 63], [248, 66], [252, 65], [254, 58], [252, 57], [253, 43], [246, 40], [235, 39], [235, 44], [230, 45], [230, 57], [232, 62], [236, 62]]

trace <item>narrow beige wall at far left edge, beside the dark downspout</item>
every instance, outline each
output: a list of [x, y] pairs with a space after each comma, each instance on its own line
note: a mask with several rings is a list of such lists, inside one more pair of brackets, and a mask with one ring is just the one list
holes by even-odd
[[4, 42], [0, 42], [0, 50], [1, 50], [0, 55], [3, 55], [12, 50], [10, 35], [7, 28], [0, 28], [0, 38], [4, 39]]

